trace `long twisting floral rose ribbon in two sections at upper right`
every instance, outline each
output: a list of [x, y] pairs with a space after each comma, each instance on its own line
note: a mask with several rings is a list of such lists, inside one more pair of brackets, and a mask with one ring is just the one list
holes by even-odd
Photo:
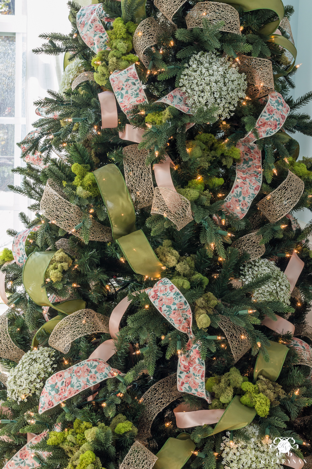
[[[289, 106], [285, 103], [282, 95], [275, 91], [270, 93], [266, 106], [255, 126], [259, 138], [274, 135], [281, 129], [288, 113]], [[261, 151], [257, 145], [253, 144], [255, 140], [257, 137], [251, 131], [236, 144], [236, 147], [241, 151], [241, 160], [236, 164], [234, 185], [228, 197], [224, 199], [225, 209], [240, 219], [244, 218], [248, 212], [262, 183]]]

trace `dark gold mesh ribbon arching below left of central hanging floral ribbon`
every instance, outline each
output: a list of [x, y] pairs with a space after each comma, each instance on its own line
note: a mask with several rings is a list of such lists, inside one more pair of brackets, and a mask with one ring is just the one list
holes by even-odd
[[169, 375], [153, 384], [143, 394], [145, 410], [138, 421], [137, 439], [145, 444], [147, 438], [151, 438], [151, 427], [155, 417], [171, 402], [182, 396], [176, 387], [176, 374]]

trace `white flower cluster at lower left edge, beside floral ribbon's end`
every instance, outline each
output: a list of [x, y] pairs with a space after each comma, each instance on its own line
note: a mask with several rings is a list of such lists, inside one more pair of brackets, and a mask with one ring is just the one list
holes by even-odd
[[26, 352], [8, 376], [8, 400], [27, 401], [27, 396], [40, 396], [46, 378], [53, 374], [54, 350], [41, 347]]

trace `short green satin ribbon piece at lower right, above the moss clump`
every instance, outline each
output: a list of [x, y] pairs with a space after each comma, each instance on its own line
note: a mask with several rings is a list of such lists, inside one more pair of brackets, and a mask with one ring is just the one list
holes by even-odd
[[271, 340], [269, 342], [271, 344], [271, 347], [267, 348], [269, 361], [266, 362], [261, 354], [258, 355], [253, 371], [254, 379], [262, 375], [270, 381], [276, 381], [280, 375], [289, 348], [279, 342], [272, 342]]

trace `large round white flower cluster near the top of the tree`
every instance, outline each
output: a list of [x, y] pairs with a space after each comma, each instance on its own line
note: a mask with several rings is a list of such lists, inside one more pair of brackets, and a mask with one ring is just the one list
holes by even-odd
[[199, 52], [191, 57], [180, 78], [180, 87], [188, 96], [193, 112], [204, 106], [218, 106], [215, 117], [230, 117], [239, 98], [245, 98], [247, 82], [232, 61], [213, 52]]

